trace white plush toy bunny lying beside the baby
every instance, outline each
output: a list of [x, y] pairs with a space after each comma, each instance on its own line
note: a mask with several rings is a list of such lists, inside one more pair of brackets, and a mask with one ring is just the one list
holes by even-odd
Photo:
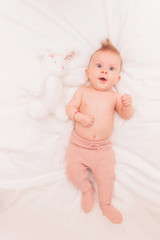
[[39, 77], [34, 79], [30, 94], [30, 116], [43, 119], [47, 115], [55, 115], [57, 120], [66, 121], [62, 77], [67, 70], [67, 62], [72, 59], [72, 51], [66, 57], [59, 54], [45, 53], [42, 58], [42, 69]]

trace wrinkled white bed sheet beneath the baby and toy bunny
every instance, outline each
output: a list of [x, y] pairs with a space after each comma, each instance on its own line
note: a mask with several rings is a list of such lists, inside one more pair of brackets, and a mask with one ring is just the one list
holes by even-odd
[[[5, 0], [0, 2], [0, 239], [160, 239], [160, 14], [158, 0]], [[123, 59], [121, 94], [135, 115], [115, 114], [114, 225], [98, 205], [89, 214], [65, 174], [71, 122], [30, 117], [38, 49], [76, 50], [66, 103], [84, 82], [90, 54], [109, 37]]]

